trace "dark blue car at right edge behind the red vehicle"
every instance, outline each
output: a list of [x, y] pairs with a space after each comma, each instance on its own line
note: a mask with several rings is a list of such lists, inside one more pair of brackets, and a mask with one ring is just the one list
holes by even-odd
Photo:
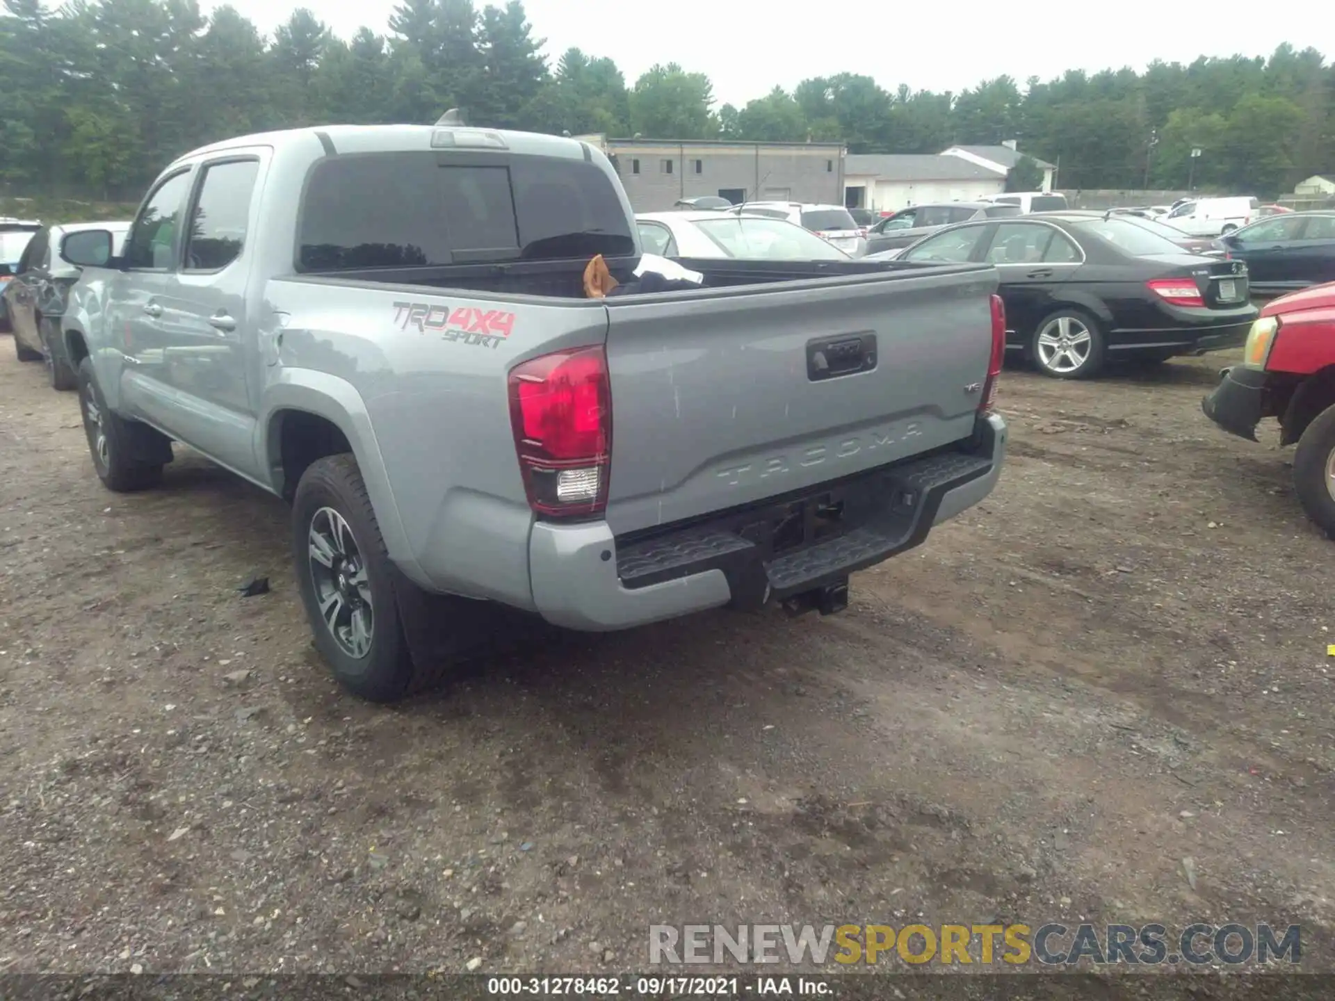
[[1219, 238], [1215, 246], [1247, 262], [1258, 295], [1335, 282], [1335, 211], [1267, 216]]

